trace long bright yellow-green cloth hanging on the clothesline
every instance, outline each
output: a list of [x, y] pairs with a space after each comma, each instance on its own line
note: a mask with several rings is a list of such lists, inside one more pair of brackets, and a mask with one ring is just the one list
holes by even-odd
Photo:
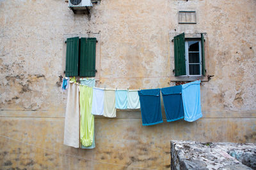
[[92, 115], [92, 87], [80, 85], [80, 141], [83, 146], [91, 146], [94, 135]]

